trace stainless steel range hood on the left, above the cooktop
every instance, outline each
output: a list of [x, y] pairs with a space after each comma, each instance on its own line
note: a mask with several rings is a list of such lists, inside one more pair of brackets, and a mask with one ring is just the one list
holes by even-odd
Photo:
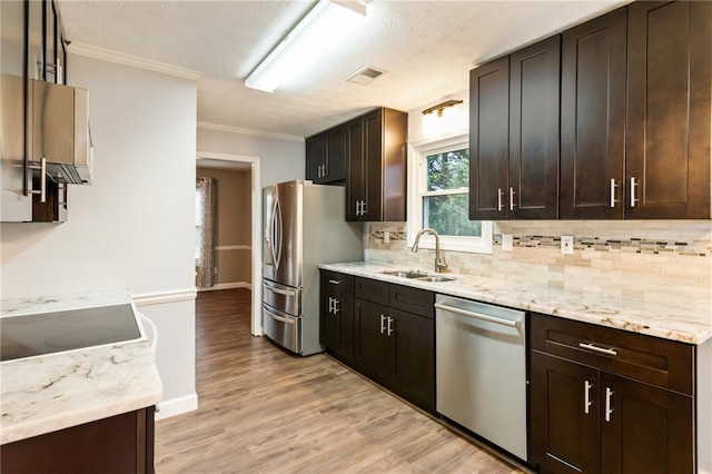
[[28, 161], [46, 160], [47, 174], [59, 184], [91, 184], [91, 137], [86, 89], [40, 80], [29, 81]]

